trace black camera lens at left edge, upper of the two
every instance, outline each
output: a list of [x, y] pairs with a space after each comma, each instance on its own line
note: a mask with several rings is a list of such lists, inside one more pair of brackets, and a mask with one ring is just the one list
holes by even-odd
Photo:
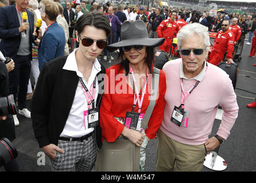
[[8, 114], [17, 114], [13, 94], [0, 98], [0, 116], [7, 116]]

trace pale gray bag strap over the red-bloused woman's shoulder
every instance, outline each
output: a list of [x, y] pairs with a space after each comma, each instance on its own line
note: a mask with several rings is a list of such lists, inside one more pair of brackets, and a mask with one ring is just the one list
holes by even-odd
[[151, 93], [150, 93], [150, 102], [148, 109], [146, 110], [146, 113], [143, 117], [143, 120], [141, 122], [141, 128], [146, 129], [148, 128], [148, 122], [150, 119], [150, 116], [153, 112], [154, 105], [156, 104], [157, 100], [157, 92], [158, 92], [158, 84], [159, 84], [159, 78], [160, 78], [160, 69], [157, 69], [156, 67], [153, 67], [154, 75], [152, 75], [152, 83], [151, 83]]

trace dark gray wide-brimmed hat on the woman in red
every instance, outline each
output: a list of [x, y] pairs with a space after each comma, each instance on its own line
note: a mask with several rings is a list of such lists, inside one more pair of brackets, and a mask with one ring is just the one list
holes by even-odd
[[149, 38], [148, 30], [143, 21], [124, 22], [121, 26], [121, 38], [117, 43], [107, 46], [107, 49], [114, 51], [119, 47], [143, 45], [143, 46], [160, 46], [164, 43], [164, 38]]

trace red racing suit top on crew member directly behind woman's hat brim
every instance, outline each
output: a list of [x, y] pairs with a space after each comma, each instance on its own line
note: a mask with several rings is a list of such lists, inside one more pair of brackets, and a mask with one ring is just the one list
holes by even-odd
[[180, 30], [179, 25], [170, 19], [164, 19], [160, 25], [157, 27], [158, 38], [168, 38], [172, 39], [175, 32]]

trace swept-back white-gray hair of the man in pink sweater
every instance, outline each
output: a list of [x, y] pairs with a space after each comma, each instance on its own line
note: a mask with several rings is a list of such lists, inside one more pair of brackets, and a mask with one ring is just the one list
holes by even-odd
[[193, 34], [199, 35], [200, 39], [203, 40], [204, 45], [207, 46], [206, 51], [209, 51], [211, 43], [208, 33], [208, 27], [205, 27], [200, 23], [189, 23], [188, 25], [185, 25], [180, 29], [180, 31], [177, 34], [177, 43], [179, 49], [182, 47], [181, 43], [183, 42], [183, 40]]

